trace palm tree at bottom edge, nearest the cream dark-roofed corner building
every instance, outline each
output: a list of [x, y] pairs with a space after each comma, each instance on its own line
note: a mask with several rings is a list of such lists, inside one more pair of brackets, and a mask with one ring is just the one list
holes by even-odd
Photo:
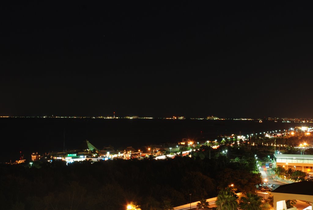
[[239, 204], [239, 207], [241, 209], [245, 210], [265, 210], [269, 209], [270, 205], [268, 203], [263, 203], [262, 202], [262, 197], [252, 194], [252, 193], [247, 193], [247, 197], [242, 197], [241, 202]]

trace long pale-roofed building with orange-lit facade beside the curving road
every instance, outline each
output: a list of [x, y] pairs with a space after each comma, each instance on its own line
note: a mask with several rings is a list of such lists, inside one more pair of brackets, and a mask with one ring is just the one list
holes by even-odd
[[313, 172], [313, 155], [274, 154], [273, 168], [281, 166], [288, 170], [300, 170], [306, 173]]

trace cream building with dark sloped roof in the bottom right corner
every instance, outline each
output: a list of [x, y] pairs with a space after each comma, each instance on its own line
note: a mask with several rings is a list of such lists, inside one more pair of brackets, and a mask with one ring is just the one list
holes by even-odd
[[272, 195], [274, 197], [274, 210], [287, 209], [286, 200], [302, 200], [313, 203], [312, 189], [312, 181], [301, 181], [279, 186], [277, 189], [272, 191]]

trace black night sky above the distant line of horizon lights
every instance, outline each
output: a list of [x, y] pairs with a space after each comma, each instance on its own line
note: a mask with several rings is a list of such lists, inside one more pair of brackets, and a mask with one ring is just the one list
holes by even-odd
[[261, 3], [1, 3], [0, 115], [313, 117], [311, 5]]

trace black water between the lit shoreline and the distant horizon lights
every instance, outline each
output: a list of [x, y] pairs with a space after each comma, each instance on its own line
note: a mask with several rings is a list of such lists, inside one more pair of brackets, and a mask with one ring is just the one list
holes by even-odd
[[[19, 159], [19, 152], [30, 158], [32, 152], [44, 153], [78, 148], [89, 140], [96, 148], [112, 145], [115, 149], [156, 143], [177, 143], [182, 138], [214, 139], [232, 133], [282, 130], [310, 123], [264, 121], [211, 121], [161, 119], [78, 119], [78, 118], [2, 118], [0, 119], [0, 162]], [[202, 133], [201, 133], [202, 131]]]

